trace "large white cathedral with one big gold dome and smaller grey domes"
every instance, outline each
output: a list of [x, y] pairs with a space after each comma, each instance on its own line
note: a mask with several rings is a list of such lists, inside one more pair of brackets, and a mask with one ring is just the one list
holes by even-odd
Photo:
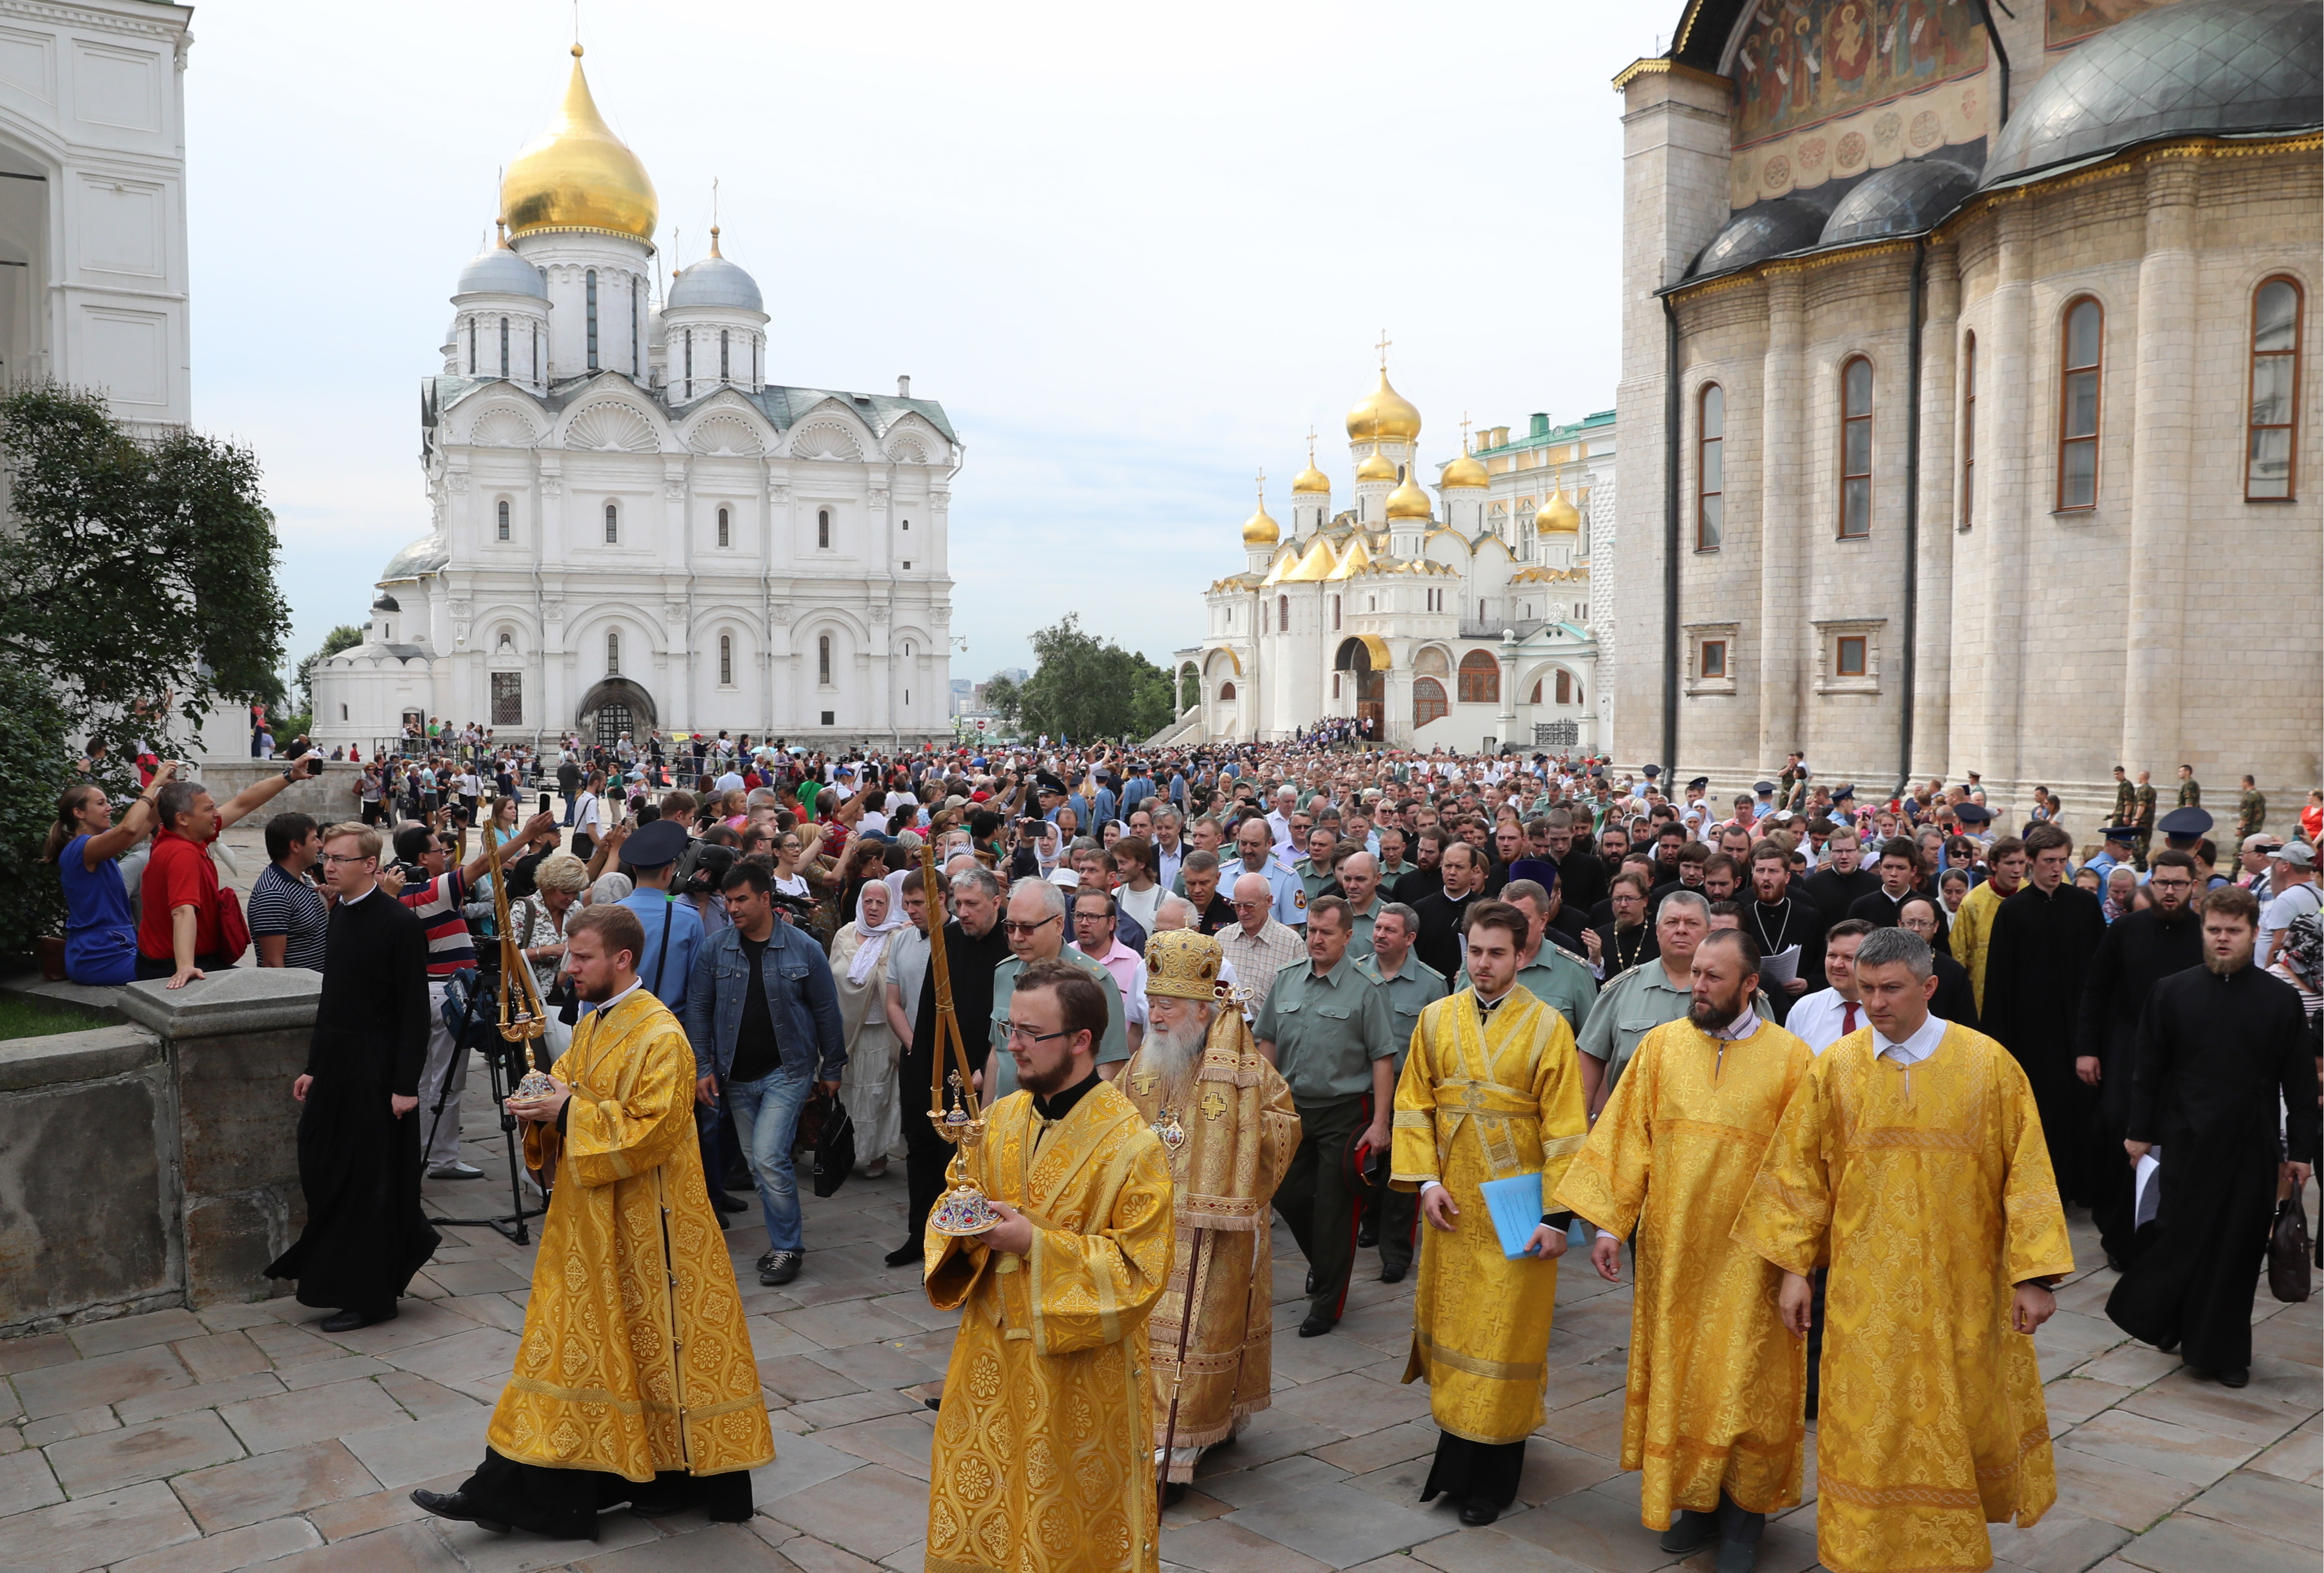
[[363, 644], [314, 671], [314, 739], [409, 718], [500, 737], [948, 734], [944, 409], [767, 379], [767, 309], [711, 253], [653, 302], [658, 200], [574, 46], [502, 181], [421, 383], [430, 530]]

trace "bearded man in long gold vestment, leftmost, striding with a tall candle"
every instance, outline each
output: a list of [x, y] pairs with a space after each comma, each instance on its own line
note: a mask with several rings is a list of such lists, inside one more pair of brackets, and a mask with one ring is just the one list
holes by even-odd
[[558, 1057], [555, 1090], [509, 1099], [525, 1164], [551, 1176], [516, 1373], [458, 1492], [414, 1492], [437, 1517], [597, 1538], [597, 1513], [700, 1508], [751, 1517], [774, 1459], [734, 1264], [695, 1141], [695, 1050], [639, 987], [646, 929], [625, 906], [565, 925], [574, 990], [597, 1008]]

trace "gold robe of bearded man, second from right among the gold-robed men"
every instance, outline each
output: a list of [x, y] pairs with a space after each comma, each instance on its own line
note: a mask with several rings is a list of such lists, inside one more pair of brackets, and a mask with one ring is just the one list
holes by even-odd
[[1645, 1471], [1638, 1517], [1799, 1501], [1808, 1345], [1776, 1313], [1783, 1273], [1734, 1238], [1759, 1157], [1815, 1053], [1762, 1020], [1722, 1043], [1655, 1027], [1615, 1083], [1557, 1206], [1636, 1238], [1622, 1468]]

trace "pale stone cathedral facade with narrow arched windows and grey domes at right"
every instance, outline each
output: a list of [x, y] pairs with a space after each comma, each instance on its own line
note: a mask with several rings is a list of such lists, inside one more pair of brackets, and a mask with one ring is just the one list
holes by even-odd
[[1613, 753], [2319, 778], [2305, 0], [1692, 0], [1624, 98]]

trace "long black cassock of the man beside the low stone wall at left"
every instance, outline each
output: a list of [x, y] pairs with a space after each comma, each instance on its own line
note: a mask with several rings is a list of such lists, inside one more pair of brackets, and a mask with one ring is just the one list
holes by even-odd
[[395, 1118], [388, 1094], [418, 1097], [428, 1055], [428, 932], [372, 890], [330, 908], [323, 999], [307, 1043], [297, 1180], [307, 1229], [267, 1266], [295, 1278], [302, 1306], [383, 1315], [435, 1255], [421, 1211], [421, 1118]]

